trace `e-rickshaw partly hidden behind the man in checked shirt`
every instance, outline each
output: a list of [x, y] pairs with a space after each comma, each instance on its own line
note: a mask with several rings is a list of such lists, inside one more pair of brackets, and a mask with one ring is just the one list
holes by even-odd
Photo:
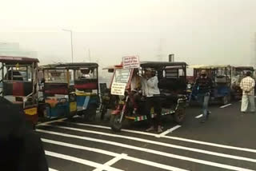
[[232, 96], [235, 100], [240, 100], [242, 98], [242, 89], [240, 88], [240, 82], [242, 78], [246, 77], [246, 72], [250, 71], [254, 73], [253, 66], [235, 66], [233, 70], [232, 77]]

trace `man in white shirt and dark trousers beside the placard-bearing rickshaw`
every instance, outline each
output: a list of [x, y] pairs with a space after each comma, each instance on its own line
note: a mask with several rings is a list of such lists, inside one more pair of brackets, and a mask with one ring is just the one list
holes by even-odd
[[[153, 131], [157, 129], [158, 133], [162, 132], [162, 126], [160, 123], [160, 117], [162, 112], [161, 102], [160, 102], [160, 90], [158, 89], [158, 77], [155, 75], [156, 71], [152, 68], [147, 68], [145, 70], [146, 78], [146, 115], [152, 121], [149, 129], [146, 131]], [[156, 117], [152, 119], [151, 108], [154, 107], [154, 113], [157, 114]]]

